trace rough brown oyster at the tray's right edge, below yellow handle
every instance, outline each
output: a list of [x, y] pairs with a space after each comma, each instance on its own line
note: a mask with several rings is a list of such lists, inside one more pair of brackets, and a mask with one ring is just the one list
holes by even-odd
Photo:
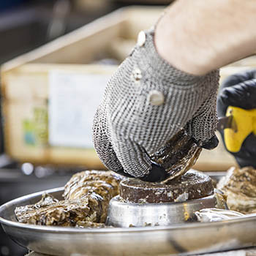
[[256, 170], [253, 167], [231, 167], [217, 188], [227, 196], [230, 210], [242, 214], [256, 213]]

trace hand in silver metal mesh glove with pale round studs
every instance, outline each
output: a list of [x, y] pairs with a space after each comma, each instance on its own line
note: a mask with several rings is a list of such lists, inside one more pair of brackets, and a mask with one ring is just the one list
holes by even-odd
[[99, 158], [122, 175], [161, 181], [165, 170], [149, 156], [181, 128], [200, 146], [214, 148], [218, 83], [218, 70], [196, 76], [172, 67], [154, 48], [154, 31], [140, 32], [94, 117]]

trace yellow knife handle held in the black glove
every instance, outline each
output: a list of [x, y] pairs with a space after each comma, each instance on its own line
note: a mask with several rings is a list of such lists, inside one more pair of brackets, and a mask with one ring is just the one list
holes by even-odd
[[236, 153], [249, 134], [256, 135], [256, 109], [244, 110], [229, 106], [226, 116], [233, 116], [233, 124], [231, 128], [224, 129], [225, 145], [228, 151]]

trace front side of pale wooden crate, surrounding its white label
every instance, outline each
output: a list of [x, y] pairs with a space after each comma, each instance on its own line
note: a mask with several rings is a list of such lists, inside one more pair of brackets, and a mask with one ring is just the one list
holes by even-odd
[[69, 75], [86, 77], [110, 75], [116, 67], [24, 64], [4, 74], [4, 138], [7, 154], [21, 162], [102, 168], [92, 147], [50, 146], [48, 142], [49, 75], [60, 69], [64, 73], [67, 70]]

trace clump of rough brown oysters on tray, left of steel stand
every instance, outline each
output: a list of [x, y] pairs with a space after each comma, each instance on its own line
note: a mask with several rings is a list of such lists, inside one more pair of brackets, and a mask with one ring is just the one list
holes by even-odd
[[15, 209], [19, 222], [66, 227], [102, 227], [108, 204], [118, 195], [120, 176], [105, 171], [84, 171], [69, 180], [64, 200], [44, 194], [42, 200]]

